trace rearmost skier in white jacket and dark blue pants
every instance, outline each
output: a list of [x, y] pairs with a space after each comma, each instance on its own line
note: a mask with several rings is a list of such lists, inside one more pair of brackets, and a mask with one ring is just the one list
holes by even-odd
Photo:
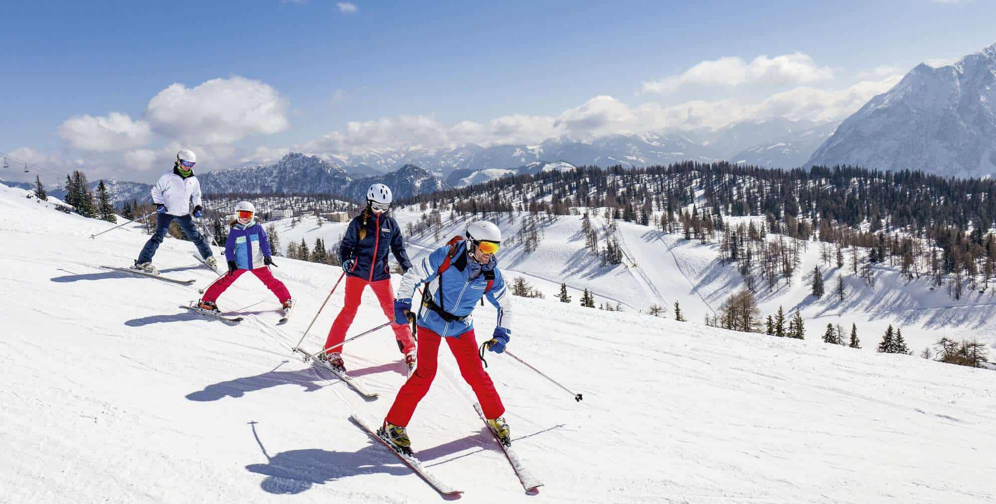
[[200, 201], [200, 182], [193, 174], [193, 165], [197, 156], [187, 149], [176, 152], [176, 162], [173, 170], [159, 177], [152, 187], [152, 202], [155, 203], [155, 233], [145, 242], [134, 268], [148, 273], [156, 273], [152, 266], [152, 256], [166, 236], [169, 224], [176, 221], [183, 234], [197, 245], [197, 251], [211, 268], [217, 267], [217, 260], [211, 253], [204, 235], [197, 231], [190, 215], [190, 203], [193, 203], [193, 217], [200, 218], [204, 211]]

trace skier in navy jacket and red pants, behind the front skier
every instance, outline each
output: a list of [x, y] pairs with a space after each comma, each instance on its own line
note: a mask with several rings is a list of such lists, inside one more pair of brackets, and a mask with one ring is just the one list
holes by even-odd
[[[360, 308], [360, 299], [364, 293], [364, 288], [368, 285], [373, 289], [377, 301], [380, 302], [380, 309], [388, 320], [394, 320], [394, 309], [392, 307], [393, 290], [390, 285], [390, 271], [387, 267], [387, 251], [394, 254], [394, 258], [401, 266], [402, 271], [411, 269], [411, 261], [404, 251], [404, 243], [401, 240], [401, 226], [389, 215], [391, 194], [390, 188], [382, 183], [371, 185], [367, 191], [367, 208], [364, 212], [350, 222], [350, 227], [346, 230], [342, 245], [339, 248], [339, 259], [343, 263], [343, 270], [346, 272], [346, 299], [343, 310], [336, 317], [336, 322], [329, 330], [329, 337], [326, 339], [324, 349], [330, 349], [319, 353], [319, 360], [337, 371], [346, 372], [346, 365], [343, 363], [343, 347], [336, 347], [346, 340], [346, 332], [353, 324], [353, 319], [357, 316]], [[408, 370], [413, 370], [415, 366], [415, 340], [411, 336], [411, 328], [407, 321], [394, 321], [391, 324], [394, 331], [394, 339], [397, 341], [397, 348], [404, 354], [404, 363]], [[328, 354], [326, 353], [328, 352]]]

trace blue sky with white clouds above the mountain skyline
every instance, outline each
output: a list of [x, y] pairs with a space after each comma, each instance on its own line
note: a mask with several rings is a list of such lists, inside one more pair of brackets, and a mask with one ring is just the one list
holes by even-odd
[[920, 61], [996, 43], [990, 1], [689, 3], [7, 2], [0, 151], [147, 180], [180, 145], [210, 169], [826, 121]]

